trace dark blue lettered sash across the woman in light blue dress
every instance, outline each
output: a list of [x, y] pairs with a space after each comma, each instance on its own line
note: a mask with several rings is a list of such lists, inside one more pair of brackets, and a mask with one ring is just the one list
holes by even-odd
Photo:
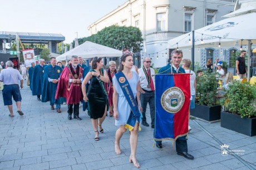
[[[116, 79], [122, 89], [122, 92], [124, 92], [125, 99], [127, 100], [129, 106], [131, 107], [131, 114], [126, 122], [125, 128], [129, 129], [129, 131], [132, 131], [134, 129], [136, 120], [140, 124], [140, 111], [139, 107], [137, 105], [137, 102], [134, 98], [134, 94], [131, 90], [130, 84], [128, 80], [126, 79], [124, 73], [122, 71], [119, 71], [117, 74], [115, 74]], [[140, 127], [139, 127], [140, 129]]]

